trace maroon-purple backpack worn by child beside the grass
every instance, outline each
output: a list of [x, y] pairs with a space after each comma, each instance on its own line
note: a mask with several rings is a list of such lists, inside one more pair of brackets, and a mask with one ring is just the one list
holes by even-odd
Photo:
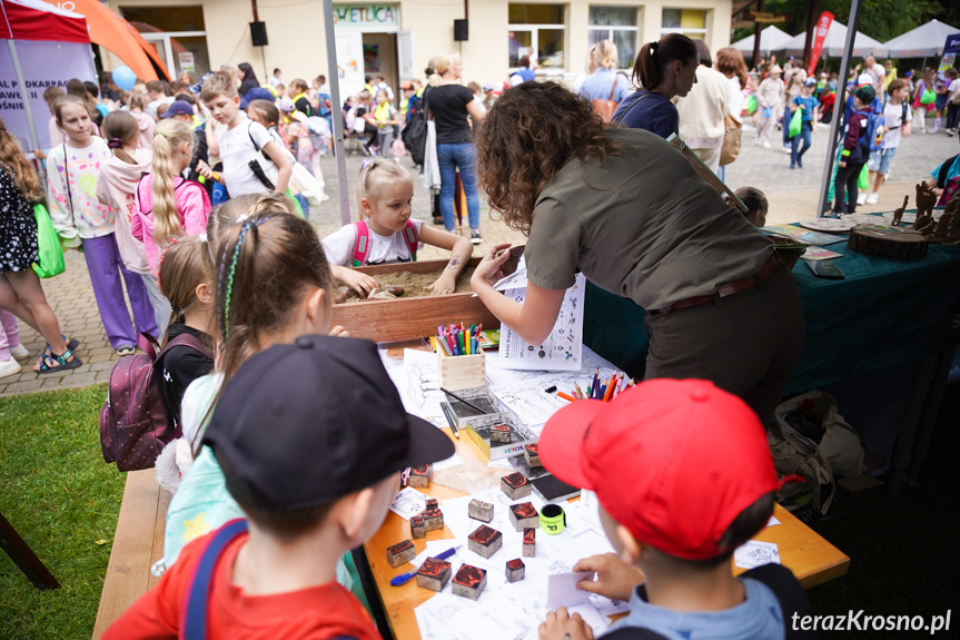
[[207, 345], [190, 334], [181, 333], [161, 349], [145, 333], [138, 341], [143, 353], [123, 356], [110, 373], [107, 403], [100, 410], [100, 446], [103, 460], [116, 462], [120, 471], [150, 469], [160, 450], [180, 437], [180, 426], [174, 424], [164, 400], [164, 356], [178, 345], [210, 356]]

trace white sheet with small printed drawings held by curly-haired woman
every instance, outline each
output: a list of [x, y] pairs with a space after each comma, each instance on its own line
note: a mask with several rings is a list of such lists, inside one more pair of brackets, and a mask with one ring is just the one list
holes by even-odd
[[[586, 277], [576, 276], [566, 291], [556, 324], [540, 345], [532, 345], [508, 326], [501, 328], [499, 363], [506, 368], [538, 371], [580, 371], [583, 365], [583, 302]], [[504, 295], [522, 303], [526, 287], [504, 291]]]

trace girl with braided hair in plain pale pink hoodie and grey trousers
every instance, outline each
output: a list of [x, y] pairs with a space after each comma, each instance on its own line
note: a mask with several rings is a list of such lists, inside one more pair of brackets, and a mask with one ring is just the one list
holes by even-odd
[[[147, 116], [149, 118], [149, 116]], [[150, 171], [152, 152], [140, 144], [140, 127], [130, 114], [111, 111], [103, 118], [103, 137], [112, 157], [100, 165], [97, 177], [97, 199], [117, 209], [117, 247], [127, 268], [139, 274], [147, 288], [157, 328], [162, 334], [170, 317], [170, 303], [160, 293], [157, 280], [150, 275], [150, 264], [143, 243], [133, 237], [131, 220], [136, 208], [135, 193], [143, 174]]]

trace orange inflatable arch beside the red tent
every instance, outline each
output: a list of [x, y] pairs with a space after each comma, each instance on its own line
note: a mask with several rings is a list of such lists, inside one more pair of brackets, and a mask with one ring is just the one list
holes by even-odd
[[98, 0], [73, 0], [72, 3], [73, 11], [87, 18], [91, 42], [120, 58], [141, 80], [161, 79], [157, 75], [158, 69], [162, 79], [170, 80], [170, 73], [156, 49], [143, 40], [132, 24]]

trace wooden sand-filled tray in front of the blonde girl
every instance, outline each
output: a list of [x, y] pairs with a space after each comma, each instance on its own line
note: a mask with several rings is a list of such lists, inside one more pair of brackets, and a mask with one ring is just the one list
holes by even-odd
[[[479, 260], [481, 258], [471, 258], [467, 267], [475, 267]], [[444, 269], [448, 264], [449, 260], [423, 260], [357, 267], [356, 270], [373, 277], [398, 272], [429, 274]], [[352, 337], [375, 342], [396, 342], [434, 335], [438, 326], [453, 322], [463, 323], [464, 326], [483, 323], [484, 328], [499, 327], [496, 316], [478, 297], [474, 297], [472, 292], [334, 305], [333, 325], [342, 325]], [[468, 356], [456, 360], [461, 357]]]

